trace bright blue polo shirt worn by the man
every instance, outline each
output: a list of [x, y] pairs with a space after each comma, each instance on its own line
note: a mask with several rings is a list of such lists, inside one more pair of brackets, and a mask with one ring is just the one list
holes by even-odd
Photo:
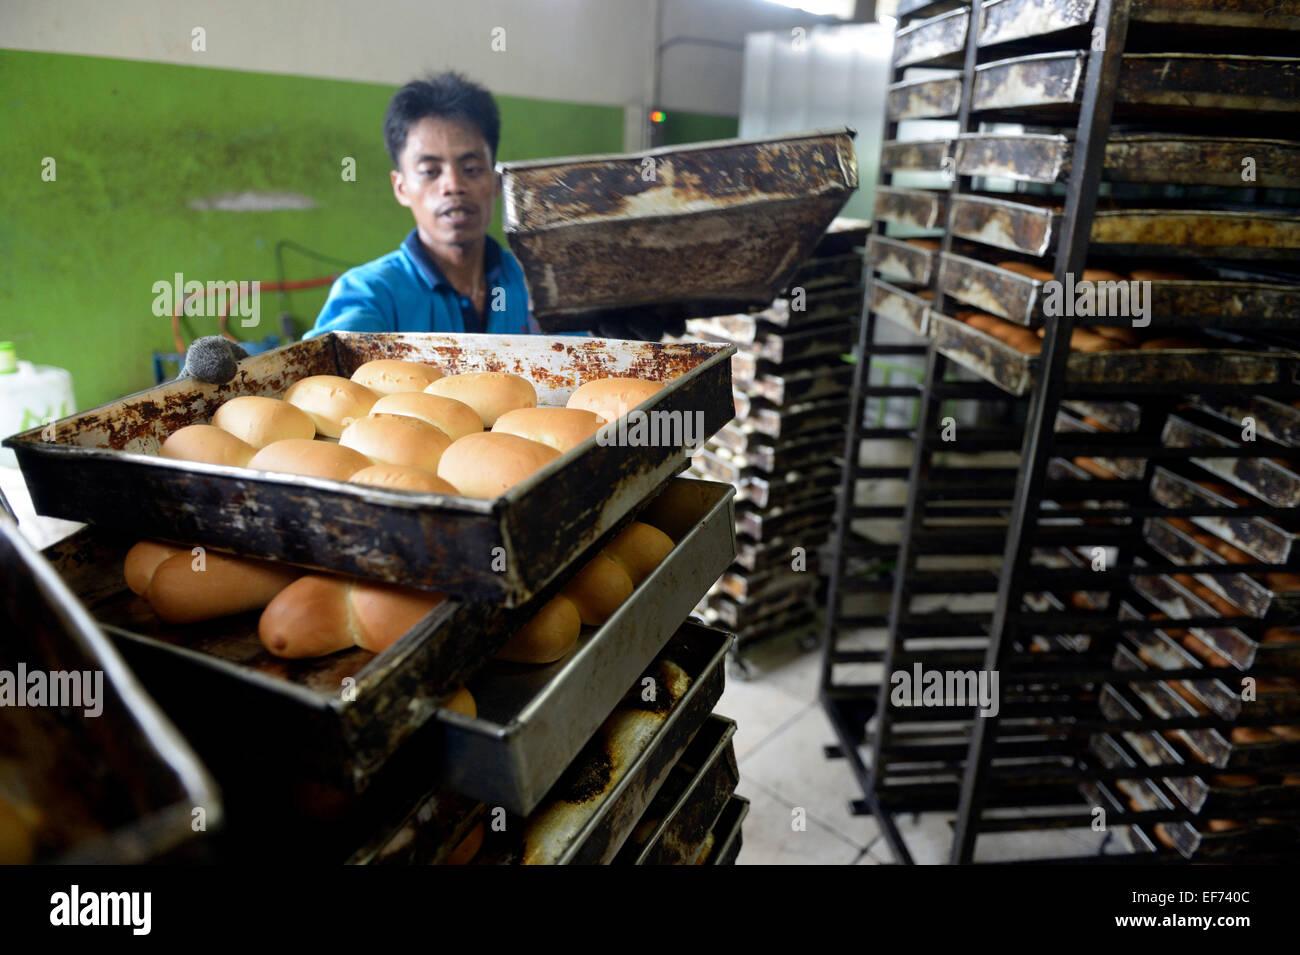
[[486, 331], [494, 335], [538, 331], [528, 304], [524, 270], [490, 235], [484, 243], [485, 316], [451, 286], [412, 229], [395, 252], [348, 269], [335, 279], [316, 325], [304, 338], [325, 331]]

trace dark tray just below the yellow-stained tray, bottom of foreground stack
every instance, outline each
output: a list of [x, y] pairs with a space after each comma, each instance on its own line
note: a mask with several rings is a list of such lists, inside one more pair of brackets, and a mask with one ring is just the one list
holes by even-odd
[[681, 754], [615, 865], [690, 865], [740, 782], [736, 724], [712, 715]]

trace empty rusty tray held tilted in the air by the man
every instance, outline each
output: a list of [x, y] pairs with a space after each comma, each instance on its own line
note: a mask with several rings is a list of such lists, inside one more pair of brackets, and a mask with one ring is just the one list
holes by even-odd
[[854, 135], [499, 164], [504, 230], [538, 324], [771, 301], [858, 187]]

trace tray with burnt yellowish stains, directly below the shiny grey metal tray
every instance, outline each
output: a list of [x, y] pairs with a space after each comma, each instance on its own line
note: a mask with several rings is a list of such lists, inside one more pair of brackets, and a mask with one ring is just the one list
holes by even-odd
[[[488, 834], [481, 859], [559, 865], [612, 861], [722, 696], [731, 642], [728, 633], [685, 624], [546, 799], [524, 820], [507, 817], [504, 833]], [[689, 677], [689, 687], [679, 696], [668, 695], [666, 661]], [[642, 702], [647, 678], [658, 683], [658, 702]]]

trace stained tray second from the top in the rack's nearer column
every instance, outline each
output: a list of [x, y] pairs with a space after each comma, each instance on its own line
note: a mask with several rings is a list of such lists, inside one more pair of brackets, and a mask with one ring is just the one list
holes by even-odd
[[[1071, 116], [1083, 96], [1086, 51], [1034, 53], [975, 68], [971, 109]], [[1115, 120], [1288, 113], [1300, 100], [1300, 58], [1209, 53], [1124, 53]]]

